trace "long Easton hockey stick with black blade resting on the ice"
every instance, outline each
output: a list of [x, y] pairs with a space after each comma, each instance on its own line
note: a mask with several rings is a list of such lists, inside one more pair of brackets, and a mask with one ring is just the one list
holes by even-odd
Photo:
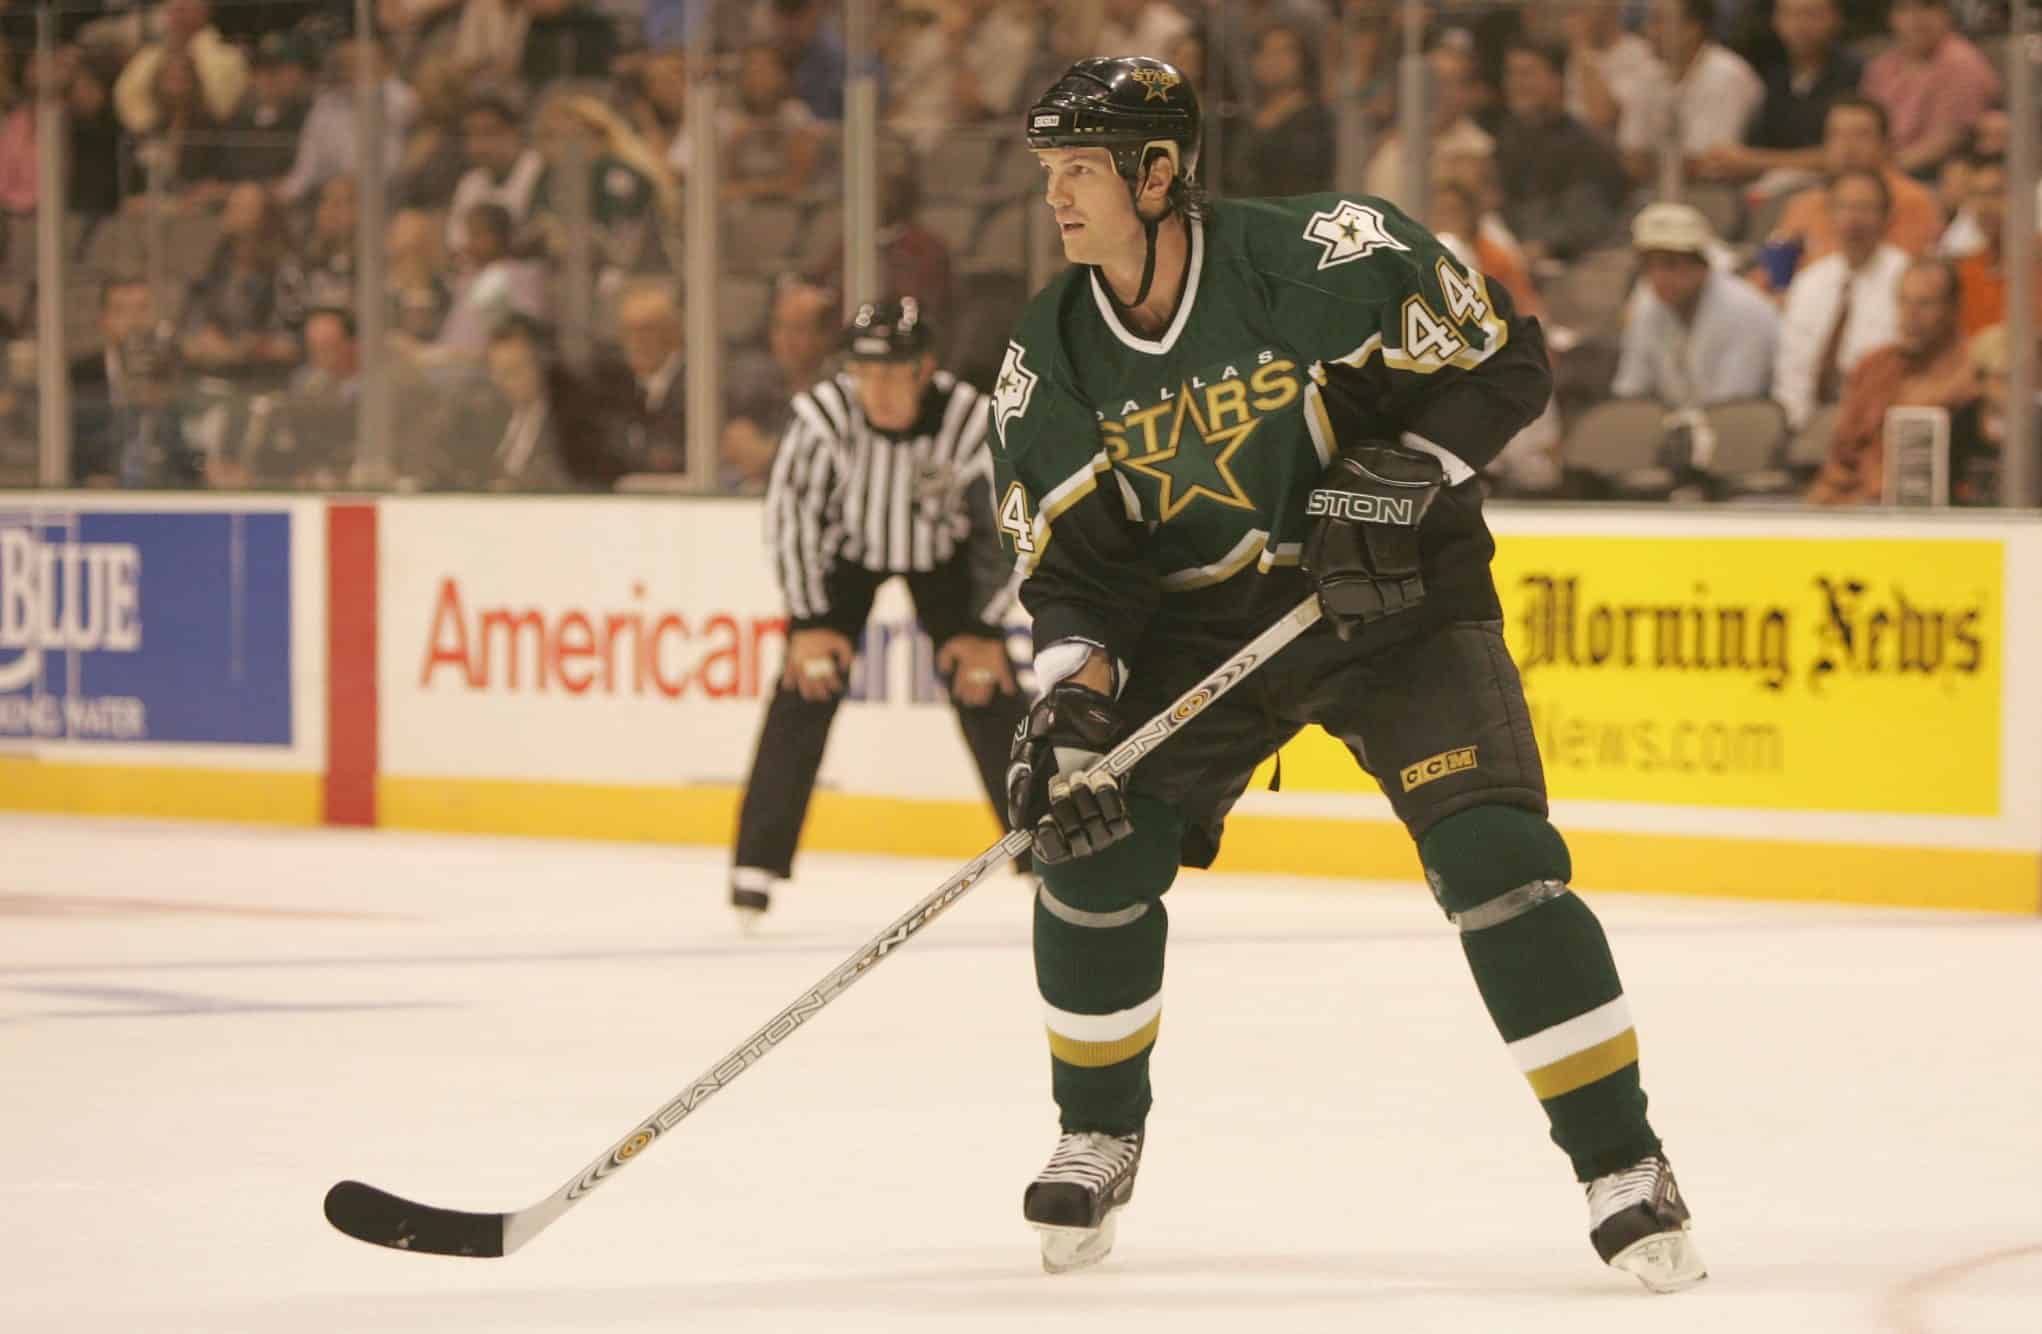
[[[1113, 774], [1125, 774], [1141, 756], [1162, 746], [1172, 731], [1274, 658], [1276, 650], [1311, 629], [1317, 619], [1319, 601], [1309, 597], [1219, 664], [1205, 680], [1184, 690], [1174, 705], [1107, 752], [1099, 764]], [[578, 1177], [539, 1203], [515, 1213], [464, 1213], [459, 1209], [412, 1203], [359, 1181], [341, 1181], [327, 1191], [327, 1222], [351, 1238], [394, 1250], [472, 1256], [510, 1254], [539, 1236], [555, 1218], [578, 1205], [617, 1171], [635, 1162], [662, 1134], [707, 1103], [713, 1093], [727, 1089], [731, 1081], [749, 1070], [766, 1052], [780, 1046], [794, 1030], [843, 995], [872, 964], [884, 960], [898, 946], [907, 944], [915, 932], [935, 921], [943, 909], [962, 899], [992, 866], [1027, 852], [1027, 831], [1017, 829], [966, 862], [935, 893], [860, 946], [856, 954], [837, 964], [823, 981], [800, 993], [792, 1005], [737, 1044], [729, 1056], [696, 1077], [674, 1101], [645, 1117], [637, 1130], [613, 1144], [600, 1158], [582, 1169]]]

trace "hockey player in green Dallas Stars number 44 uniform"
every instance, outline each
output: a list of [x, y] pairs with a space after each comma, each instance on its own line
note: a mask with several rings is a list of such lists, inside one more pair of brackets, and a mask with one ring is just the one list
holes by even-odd
[[[1370, 196], [1207, 200], [1178, 69], [1084, 59], [1027, 110], [1072, 268], [992, 392], [999, 527], [1041, 693], [1009, 819], [1035, 833], [1035, 979], [1062, 1138], [1023, 1195], [1052, 1273], [1133, 1193], [1178, 864], [1307, 723], [1389, 795], [1482, 1001], [1587, 1187], [1603, 1260], [1703, 1277], [1646, 1122], [1603, 927], [1568, 889], [1503, 646], [1474, 474], [1546, 404], [1536, 321]], [[1125, 782], [1092, 758], [1317, 592], [1321, 625]]]

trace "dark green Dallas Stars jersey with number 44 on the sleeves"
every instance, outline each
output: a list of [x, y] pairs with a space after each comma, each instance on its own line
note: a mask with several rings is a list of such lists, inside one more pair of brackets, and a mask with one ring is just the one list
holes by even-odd
[[[1538, 325], [1372, 196], [1209, 204], [1156, 337], [1072, 268], [1029, 302], [990, 400], [1035, 641], [1129, 662], [1156, 623], [1254, 633], [1305, 597], [1305, 496], [1344, 441], [1401, 439], [1466, 482], [1548, 390]], [[1433, 613], [1499, 615], [1478, 486], [1440, 496], [1421, 545]]]

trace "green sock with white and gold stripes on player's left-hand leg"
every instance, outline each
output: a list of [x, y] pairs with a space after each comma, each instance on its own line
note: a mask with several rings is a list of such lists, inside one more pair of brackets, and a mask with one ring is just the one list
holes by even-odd
[[1035, 985], [1050, 1028], [1050, 1083], [1064, 1130], [1129, 1134], [1152, 1101], [1162, 956], [1176, 878], [1176, 811], [1129, 801], [1135, 831], [1086, 858], [1043, 866], [1035, 895]]

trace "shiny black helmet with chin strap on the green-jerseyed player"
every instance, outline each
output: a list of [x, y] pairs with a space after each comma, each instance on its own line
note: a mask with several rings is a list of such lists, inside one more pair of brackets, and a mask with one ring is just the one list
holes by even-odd
[[1197, 215], [1199, 149], [1205, 121], [1199, 94], [1176, 65], [1148, 55], [1092, 55], [1064, 72], [1050, 92], [1027, 108], [1031, 149], [1107, 149], [1113, 170], [1141, 215], [1141, 186], [1156, 157], [1174, 168], [1164, 208], [1141, 217], [1148, 229], [1148, 264], [1133, 304], [1148, 298], [1156, 278], [1156, 229], [1172, 212]]

